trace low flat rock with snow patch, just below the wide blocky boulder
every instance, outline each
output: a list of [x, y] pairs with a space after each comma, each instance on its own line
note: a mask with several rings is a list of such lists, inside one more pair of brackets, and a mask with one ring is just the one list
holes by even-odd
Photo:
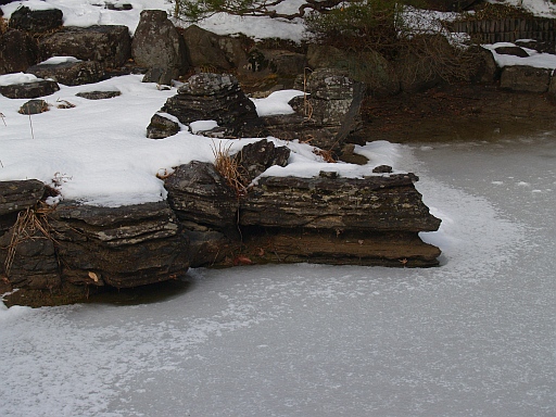
[[26, 72], [39, 78], [51, 78], [66, 86], [98, 83], [104, 75], [102, 65], [94, 61], [39, 64], [30, 66]]

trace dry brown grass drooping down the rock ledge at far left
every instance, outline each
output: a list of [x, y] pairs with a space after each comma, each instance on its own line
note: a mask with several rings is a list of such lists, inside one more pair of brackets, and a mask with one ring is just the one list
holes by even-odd
[[[55, 242], [51, 233], [51, 227], [48, 223], [48, 214], [54, 208], [46, 203], [39, 203], [37, 207], [29, 207], [17, 214], [17, 220], [13, 226], [12, 239], [8, 247], [8, 256], [4, 261], [5, 275], [10, 275], [10, 269], [15, 258], [17, 247], [27, 240], [49, 239]], [[37, 235], [42, 236], [37, 236]]]

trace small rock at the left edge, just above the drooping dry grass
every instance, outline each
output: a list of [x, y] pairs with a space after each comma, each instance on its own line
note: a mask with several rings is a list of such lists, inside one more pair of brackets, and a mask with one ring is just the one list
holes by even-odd
[[0, 216], [35, 206], [45, 193], [38, 179], [0, 181]]

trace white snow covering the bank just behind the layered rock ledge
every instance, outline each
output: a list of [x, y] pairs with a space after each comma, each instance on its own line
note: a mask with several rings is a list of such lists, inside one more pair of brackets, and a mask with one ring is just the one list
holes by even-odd
[[[3, 75], [0, 85], [29, 77], [34, 76]], [[104, 206], [153, 202], [166, 198], [156, 174], [167, 174], [172, 167], [192, 160], [214, 161], [215, 150], [235, 153], [258, 140], [208, 139], [189, 132], [188, 126], [163, 140], [148, 139], [146, 130], [152, 115], [176, 94], [176, 88], [161, 91], [155, 84], [141, 79], [141, 75], [129, 75], [94, 85], [61, 86], [60, 91], [43, 98], [51, 104], [50, 111], [31, 116], [17, 113], [27, 100], [0, 96], [0, 180], [36, 178], [58, 188], [62, 199]], [[109, 100], [76, 96], [94, 90], [117, 90], [122, 94]], [[292, 113], [287, 103], [296, 94], [302, 92], [277, 91], [254, 102], [261, 114]], [[67, 103], [74, 108], [58, 108]], [[198, 128], [199, 122], [194, 124]], [[369, 143], [359, 148], [370, 159], [363, 167], [327, 164], [309, 144], [269, 139], [293, 153], [288, 167], [275, 166], [264, 175], [312, 177], [319, 170], [334, 170], [344, 177], [362, 177], [372, 175], [375, 166], [390, 164], [395, 157], [384, 143]]]

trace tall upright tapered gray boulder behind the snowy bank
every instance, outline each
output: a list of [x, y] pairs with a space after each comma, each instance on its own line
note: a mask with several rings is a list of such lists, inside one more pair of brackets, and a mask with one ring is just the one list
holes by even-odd
[[[162, 10], [143, 10], [131, 42], [137, 65], [185, 74], [189, 67], [184, 38]], [[164, 83], [166, 84], [166, 83]]]

